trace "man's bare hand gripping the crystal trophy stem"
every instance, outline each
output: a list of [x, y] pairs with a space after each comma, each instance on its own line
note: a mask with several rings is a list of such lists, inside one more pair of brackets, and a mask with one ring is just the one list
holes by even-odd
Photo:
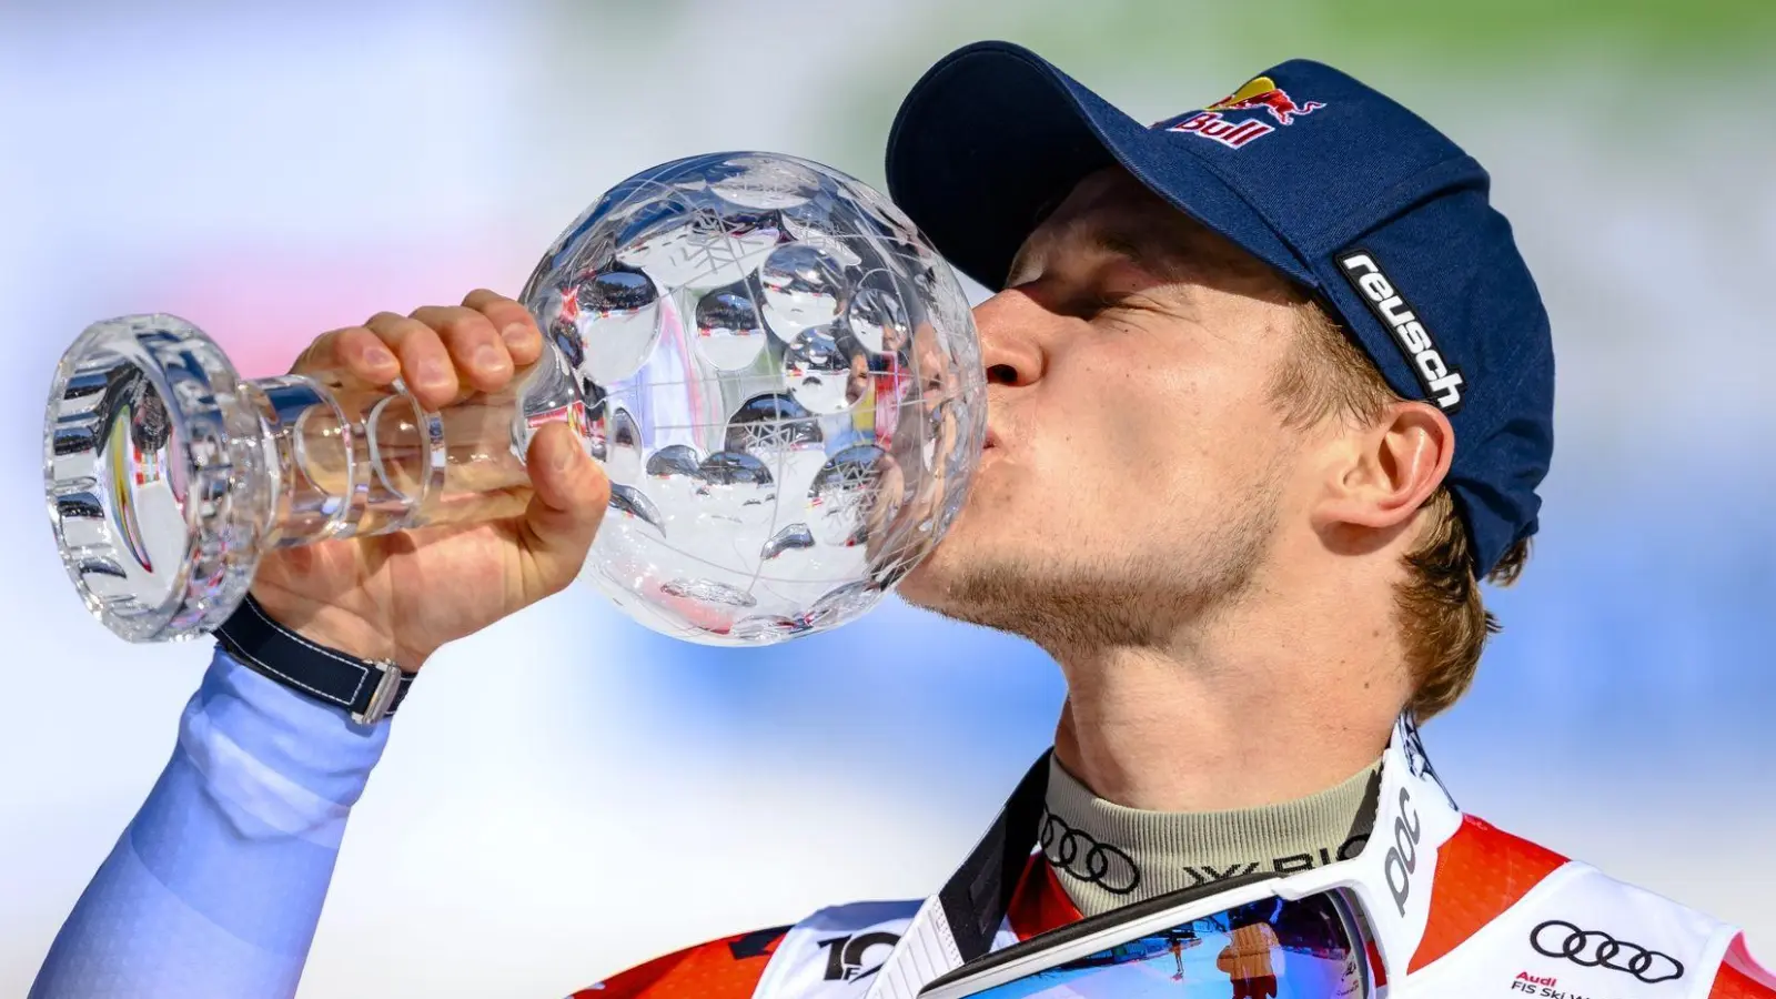
[[[327, 332], [295, 372], [336, 372], [368, 386], [401, 377], [435, 411], [460, 391], [506, 386], [542, 350], [524, 306], [480, 290], [462, 306], [378, 313]], [[558, 423], [531, 439], [526, 469], [533, 489], [520, 517], [274, 551], [252, 595], [313, 642], [414, 672], [446, 642], [561, 590], [584, 563], [609, 501], [604, 471]]]

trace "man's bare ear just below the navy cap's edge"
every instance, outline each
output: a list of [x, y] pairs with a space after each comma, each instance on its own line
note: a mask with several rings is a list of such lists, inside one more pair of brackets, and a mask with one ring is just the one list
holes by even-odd
[[1396, 402], [1364, 430], [1352, 430], [1327, 466], [1314, 507], [1321, 528], [1389, 530], [1412, 521], [1449, 475], [1455, 428], [1424, 402]]

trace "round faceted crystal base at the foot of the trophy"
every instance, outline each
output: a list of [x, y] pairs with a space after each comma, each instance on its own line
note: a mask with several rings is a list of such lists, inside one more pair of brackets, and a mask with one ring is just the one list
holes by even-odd
[[130, 642], [222, 624], [252, 583], [277, 491], [222, 350], [169, 315], [94, 324], [62, 356], [44, 423], [50, 524], [87, 610]]

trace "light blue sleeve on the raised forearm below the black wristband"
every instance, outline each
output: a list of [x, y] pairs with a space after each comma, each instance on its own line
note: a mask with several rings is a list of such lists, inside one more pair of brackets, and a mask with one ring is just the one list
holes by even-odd
[[357, 725], [217, 651], [30, 999], [293, 995], [387, 738], [389, 720]]

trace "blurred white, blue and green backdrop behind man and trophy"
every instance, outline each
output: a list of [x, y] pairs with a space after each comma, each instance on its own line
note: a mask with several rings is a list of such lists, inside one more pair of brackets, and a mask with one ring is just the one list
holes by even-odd
[[[606, 187], [673, 156], [776, 149], [879, 185], [900, 94], [980, 37], [1154, 121], [1316, 57], [1490, 167], [1554, 315], [1559, 443], [1506, 633], [1428, 747], [1469, 811], [1776, 958], [1776, 5], [67, 2], [0, 4], [0, 994], [208, 659], [112, 638], [52, 547], [41, 405], [85, 324], [172, 311], [274, 373], [377, 309], [517, 292]], [[304, 995], [559, 995], [924, 896], [1058, 702], [1028, 647], [899, 604], [712, 651], [570, 590], [428, 667]]]

